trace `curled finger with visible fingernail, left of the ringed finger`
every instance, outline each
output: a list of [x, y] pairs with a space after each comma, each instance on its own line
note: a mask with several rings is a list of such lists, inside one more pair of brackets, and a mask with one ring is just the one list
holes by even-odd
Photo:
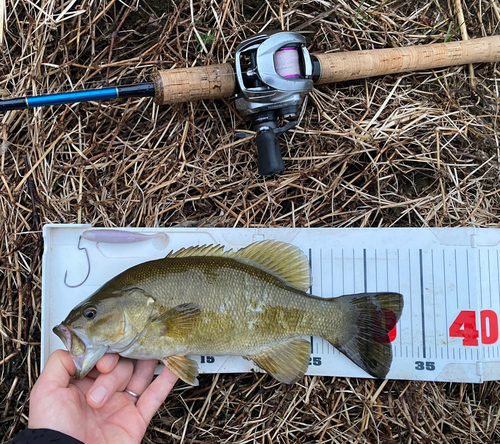
[[121, 392], [127, 387], [132, 376], [134, 365], [129, 359], [120, 359], [117, 366], [110, 373], [102, 373], [95, 380], [87, 393], [87, 403], [98, 409], [104, 405], [114, 393]]

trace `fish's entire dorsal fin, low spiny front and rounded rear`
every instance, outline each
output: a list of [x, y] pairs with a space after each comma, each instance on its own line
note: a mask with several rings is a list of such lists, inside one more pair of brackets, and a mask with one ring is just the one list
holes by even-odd
[[295, 245], [273, 240], [255, 242], [238, 251], [224, 251], [222, 245], [200, 245], [171, 252], [167, 258], [226, 257], [260, 268], [302, 291], [311, 286], [309, 261]]

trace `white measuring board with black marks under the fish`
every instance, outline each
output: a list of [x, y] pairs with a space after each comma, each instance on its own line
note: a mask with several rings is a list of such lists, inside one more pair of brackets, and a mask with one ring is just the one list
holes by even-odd
[[[62, 343], [52, 328], [80, 301], [127, 268], [164, 257], [182, 247], [221, 244], [227, 249], [275, 239], [299, 247], [309, 257], [311, 293], [393, 291], [405, 307], [391, 332], [390, 379], [483, 382], [500, 380], [500, 229], [474, 228], [124, 228], [165, 232], [163, 250], [152, 240], [105, 244], [78, 239], [87, 225], [46, 225], [42, 283], [42, 363]], [[118, 230], [118, 229], [117, 229]], [[186, 301], [189, 302], [189, 301]], [[308, 374], [368, 377], [321, 338], [311, 341]], [[241, 357], [197, 356], [201, 373], [256, 369]]]

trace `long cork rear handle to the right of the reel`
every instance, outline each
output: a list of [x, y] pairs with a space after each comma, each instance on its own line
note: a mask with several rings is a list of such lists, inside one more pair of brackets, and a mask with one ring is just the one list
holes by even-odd
[[386, 74], [500, 61], [500, 36], [403, 48], [314, 54], [321, 65], [316, 82], [331, 83]]

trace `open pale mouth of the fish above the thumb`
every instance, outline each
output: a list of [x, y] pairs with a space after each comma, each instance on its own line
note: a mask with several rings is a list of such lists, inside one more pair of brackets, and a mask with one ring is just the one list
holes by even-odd
[[84, 378], [108, 348], [106, 346], [94, 347], [84, 335], [78, 334], [63, 324], [56, 325], [52, 331], [61, 339], [75, 363], [75, 379]]

